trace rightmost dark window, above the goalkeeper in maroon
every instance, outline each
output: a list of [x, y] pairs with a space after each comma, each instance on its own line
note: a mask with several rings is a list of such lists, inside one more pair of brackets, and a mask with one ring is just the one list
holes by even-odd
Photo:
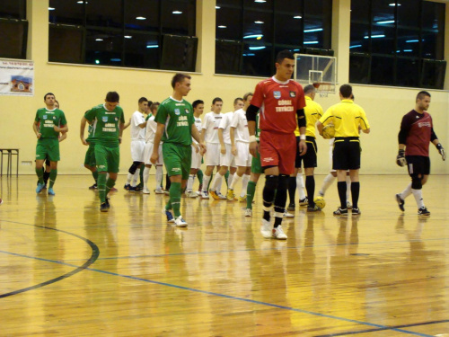
[[445, 4], [351, 2], [351, 83], [443, 89], [444, 49]]

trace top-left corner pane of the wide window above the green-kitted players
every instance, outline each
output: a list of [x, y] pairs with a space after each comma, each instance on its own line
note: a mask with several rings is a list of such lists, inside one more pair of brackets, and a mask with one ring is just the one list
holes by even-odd
[[84, 25], [84, 4], [75, 0], [50, 0], [48, 21], [51, 23], [66, 23]]

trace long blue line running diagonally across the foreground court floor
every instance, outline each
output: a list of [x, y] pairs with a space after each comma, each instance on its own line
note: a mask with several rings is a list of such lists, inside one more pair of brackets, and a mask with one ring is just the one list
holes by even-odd
[[[24, 258], [27, 258], [27, 259], [40, 260], [40, 261], [43, 261], [43, 262], [57, 263], [57, 264], [66, 265], [66, 266], [69, 266], [69, 267], [81, 268], [79, 266], [76, 266], [76, 265], [70, 264], [70, 263], [66, 263], [66, 262], [59, 262], [59, 261], [53, 261], [53, 260], [48, 260], [48, 259], [43, 259], [43, 258], [36, 258], [36, 257], [33, 257], [33, 256], [23, 255], [23, 254], [19, 254], [19, 253], [9, 253], [9, 252], [4, 252], [4, 251], [0, 251], [0, 253], [11, 254], [11, 255], [14, 255], [14, 256], [24, 257]], [[434, 337], [431, 334], [415, 333], [415, 332], [410, 332], [410, 331], [407, 331], [407, 330], [402, 330], [402, 329], [399, 329], [399, 328], [389, 327], [389, 326], [386, 326], [386, 325], [373, 324], [373, 323], [357, 321], [357, 320], [353, 320], [353, 319], [349, 319], [349, 318], [345, 318], [345, 317], [338, 317], [338, 316], [333, 316], [333, 315], [326, 315], [326, 314], [315, 313], [313, 311], [308, 311], [308, 310], [304, 310], [304, 309], [298, 309], [298, 308], [291, 307], [291, 306], [279, 306], [279, 305], [275, 305], [275, 304], [272, 304], [272, 303], [256, 301], [254, 299], [248, 299], [248, 298], [242, 298], [242, 297], [234, 297], [234, 296], [225, 295], [225, 294], [219, 294], [219, 293], [215, 293], [215, 292], [207, 291], [207, 290], [200, 290], [200, 289], [196, 289], [196, 288], [177, 286], [177, 285], [174, 285], [174, 284], [171, 284], [171, 283], [159, 282], [159, 281], [155, 281], [155, 280], [152, 280], [152, 279], [136, 278], [135, 276], [118, 274], [116, 272], [111, 272], [111, 271], [107, 271], [107, 270], [98, 270], [98, 269], [94, 269], [94, 268], [84, 268], [84, 270], [91, 270], [91, 271], [100, 272], [100, 273], [111, 275], [111, 276], [118, 276], [118, 277], [124, 278], [124, 279], [133, 279], [133, 280], [142, 281], [142, 282], [145, 282], [145, 283], [152, 283], [152, 284], [159, 285], [159, 286], [164, 286], [164, 287], [178, 288], [178, 289], [181, 289], [181, 290], [192, 291], [192, 292], [196, 292], [196, 293], [203, 294], [203, 295], [210, 295], [210, 296], [215, 296], [215, 297], [223, 297], [223, 298], [226, 298], [226, 299], [238, 300], [238, 301], [247, 302], [247, 303], [260, 305], [260, 306], [270, 306], [270, 307], [275, 307], [277, 309], [284, 309], [284, 310], [295, 311], [295, 312], [301, 313], [301, 314], [314, 315], [314, 316], [323, 317], [323, 318], [330, 318], [330, 319], [343, 321], [343, 322], [348, 322], [348, 323], [352, 323], [352, 324], [361, 324], [361, 325], [372, 326], [372, 327], [378, 328], [378, 329], [380, 329], [382, 331], [394, 331], [394, 332], [398, 332], [398, 333], [412, 334], [412, 335], [415, 335], [415, 336]]]

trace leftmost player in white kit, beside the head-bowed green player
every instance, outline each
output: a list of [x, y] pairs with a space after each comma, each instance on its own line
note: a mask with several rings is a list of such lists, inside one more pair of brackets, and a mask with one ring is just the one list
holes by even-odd
[[140, 166], [144, 164], [145, 152], [145, 114], [148, 113], [148, 100], [139, 98], [138, 109], [131, 116], [131, 158], [133, 164], [129, 167], [125, 190], [136, 191]]

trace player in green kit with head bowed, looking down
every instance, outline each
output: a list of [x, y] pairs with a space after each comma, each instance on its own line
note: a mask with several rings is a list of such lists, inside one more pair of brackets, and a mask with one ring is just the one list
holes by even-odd
[[[121, 134], [125, 124], [123, 110], [119, 107], [119, 93], [109, 92], [103, 104], [86, 111], [81, 119], [80, 137], [81, 142], [87, 145], [84, 139], [84, 129], [86, 122], [92, 124], [92, 134], [89, 137], [94, 143], [95, 161], [98, 170], [98, 194], [100, 197], [101, 212], [107, 212], [110, 203], [107, 198], [119, 173]], [[109, 178], [106, 181], [106, 173]]]

